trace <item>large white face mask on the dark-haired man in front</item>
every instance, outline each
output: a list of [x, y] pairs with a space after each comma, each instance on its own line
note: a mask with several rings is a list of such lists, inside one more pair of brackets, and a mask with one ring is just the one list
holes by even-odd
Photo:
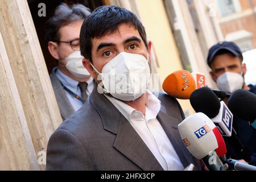
[[94, 67], [93, 69], [101, 77], [100, 84], [104, 86], [102, 89], [122, 101], [134, 101], [146, 93], [151, 77], [148, 59], [127, 52], [121, 52], [109, 61], [102, 73]]

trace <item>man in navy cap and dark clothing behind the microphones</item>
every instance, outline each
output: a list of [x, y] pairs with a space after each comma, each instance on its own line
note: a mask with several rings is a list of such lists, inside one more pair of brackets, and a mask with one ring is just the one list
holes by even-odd
[[[249, 90], [256, 94], [256, 86], [245, 84], [246, 65], [242, 63], [241, 49], [233, 42], [221, 42], [209, 49], [207, 63], [212, 69], [210, 75], [220, 90], [234, 93], [238, 89]], [[227, 102], [227, 100], [225, 101]], [[249, 123], [240, 118], [233, 119], [233, 128], [237, 136], [250, 153], [250, 164], [256, 165], [256, 132]], [[242, 156], [228, 146], [230, 158], [241, 159]]]

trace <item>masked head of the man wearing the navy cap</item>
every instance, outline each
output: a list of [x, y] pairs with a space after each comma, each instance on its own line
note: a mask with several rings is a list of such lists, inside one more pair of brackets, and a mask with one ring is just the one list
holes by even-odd
[[209, 50], [208, 65], [210, 75], [220, 90], [233, 93], [238, 89], [250, 90], [245, 85], [246, 65], [242, 64], [240, 48], [233, 42], [222, 42]]

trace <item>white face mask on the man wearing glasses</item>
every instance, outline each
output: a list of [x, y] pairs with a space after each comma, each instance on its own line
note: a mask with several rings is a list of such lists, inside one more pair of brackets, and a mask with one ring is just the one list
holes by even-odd
[[67, 64], [65, 67], [68, 69], [72, 75], [75, 75], [79, 78], [85, 78], [90, 76], [90, 73], [85, 69], [84, 65], [82, 65], [82, 60], [84, 57], [81, 55], [80, 51], [75, 51], [71, 53], [68, 57], [66, 57]]

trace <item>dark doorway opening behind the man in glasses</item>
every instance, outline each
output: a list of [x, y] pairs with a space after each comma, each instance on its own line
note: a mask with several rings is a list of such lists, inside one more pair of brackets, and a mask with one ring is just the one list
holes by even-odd
[[[48, 69], [48, 73], [52, 72], [52, 69], [56, 67], [57, 61], [53, 59], [53, 57], [48, 52], [47, 42], [45, 39], [46, 31], [45, 31], [45, 24], [51, 16], [53, 16], [55, 8], [60, 5], [61, 2], [65, 2], [68, 5], [73, 5], [75, 3], [81, 3], [86, 7], [89, 7], [90, 10], [96, 9], [98, 6], [104, 5], [102, 0], [27, 0], [28, 5], [30, 7], [30, 12], [35, 24], [36, 32], [38, 34], [38, 39], [40, 42], [40, 46], [43, 51], [44, 59], [46, 60], [46, 65]], [[46, 17], [38, 16], [38, 11], [40, 8], [38, 7], [39, 3], [46, 4]]]

